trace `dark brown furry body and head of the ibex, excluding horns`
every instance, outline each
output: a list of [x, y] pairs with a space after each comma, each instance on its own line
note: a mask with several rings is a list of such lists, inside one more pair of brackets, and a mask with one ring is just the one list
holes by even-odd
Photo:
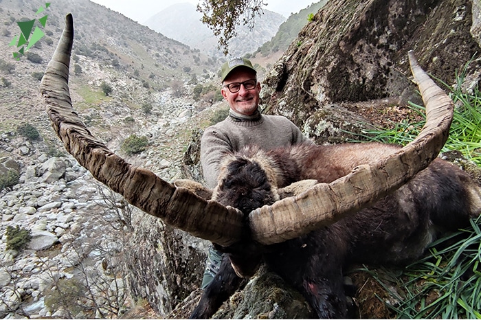
[[[315, 179], [330, 183], [355, 166], [396, 150], [398, 146], [375, 143], [292, 146], [269, 152], [245, 148], [225, 159], [213, 198], [247, 215], [277, 201], [287, 192], [282, 188], [295, 181]], [[300, 183], [290, 187], [287, 195], [312, 185], [312, 181]], [[439, 233], [469, 225], [469, 218], [478, 216], [480, 210], [480, 186], [456, 165], [435, 159], [409, 183], [371, 207], [306, 236], [271, 246], [253, 242], [218, 246], [227, 253], [225, 261], [192, 317], [210, 317], [240, 283], [234, 269], [249, 276], [262, 260], [271, 271], [300, 290], [318, 317], [346, 318], [346, 266], [355, 262], [411, 262], [423, 254]]]

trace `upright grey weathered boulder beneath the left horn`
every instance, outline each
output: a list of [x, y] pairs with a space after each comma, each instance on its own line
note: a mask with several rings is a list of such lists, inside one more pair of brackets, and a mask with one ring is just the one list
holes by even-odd
[[208, 244], [145, 215], [126, 250], [133, 296], [165, 317], [201, 284]]

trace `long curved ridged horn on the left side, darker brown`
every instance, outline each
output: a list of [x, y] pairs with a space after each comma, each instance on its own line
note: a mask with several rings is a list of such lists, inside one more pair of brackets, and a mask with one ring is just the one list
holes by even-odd
[[73, 39], [74, 23], [68, 14], [40, 87], [45, 109], [65, 149], [98, 181], [168, 225], [223, 246], [237, 242], [243, 232], [241, 212], [205, 201], [149, 170], [127, 163], [91, 135], [71, 105], [68, 80]]

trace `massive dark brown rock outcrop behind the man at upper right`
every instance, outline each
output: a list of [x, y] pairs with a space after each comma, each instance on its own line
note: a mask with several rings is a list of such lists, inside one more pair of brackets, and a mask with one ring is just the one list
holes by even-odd
[[[471, 9], [478, 7], [469, 0], [328, 1], [266, 75], [262, 101], [318, 143], [328, 141], [346, 123], [331, 115], [331, 104], [342, 109], [339, 104], [348, 102], [356, 113], [358, 102], [416, 97], [410, 49], [425, 70], [454, 84], [456, 69], [479, 50], [479, 32], [470, 33]], [[317, 128], [321, 122], [328, 130]]]

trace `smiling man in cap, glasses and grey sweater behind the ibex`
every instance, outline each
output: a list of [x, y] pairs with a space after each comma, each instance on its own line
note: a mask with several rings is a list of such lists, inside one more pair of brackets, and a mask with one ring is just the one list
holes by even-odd
[[[223, 64], [221, 73], [221, 92], [230, 106], [229, 116], [205, 129], [201, 139], [201, 165], [210, 188], [217, 185], [225, 152], [235, 152], [247, 145], [270, 150], [311, 141], [286, 117], [260, 113], [260, 82], [249, 60], [231, 58]], [[208, 286], [219, 271], [221, 257], [222, 253], [210, 247], [201, 288]]]

